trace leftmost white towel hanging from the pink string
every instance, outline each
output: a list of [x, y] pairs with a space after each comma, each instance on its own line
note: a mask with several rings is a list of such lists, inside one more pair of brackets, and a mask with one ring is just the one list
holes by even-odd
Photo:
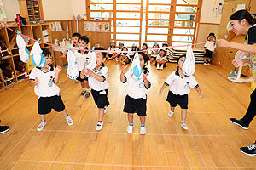
[[19, 47], [19, 55], [20, 60], [24, 63], [27, 63], [29, 61], [29, 51], [26, 48], [26, 42], [24, 41], [23, 37], [20, 35], [20, 31], [17, 31], [18, 35], [16, 37], [16, 42]]

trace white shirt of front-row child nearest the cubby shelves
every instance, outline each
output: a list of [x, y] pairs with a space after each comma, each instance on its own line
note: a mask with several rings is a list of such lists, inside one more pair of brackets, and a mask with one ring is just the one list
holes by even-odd
[[49, 67], [49, 71], [44, 72], [38, 67], [32, 69], [29, 79], [38, 79], [38, 86], [35, 86], [35, 94], [40, 97], [51, 97], [60, 94], [60, 88], [55, 84], [55, 71], [52, 66]]

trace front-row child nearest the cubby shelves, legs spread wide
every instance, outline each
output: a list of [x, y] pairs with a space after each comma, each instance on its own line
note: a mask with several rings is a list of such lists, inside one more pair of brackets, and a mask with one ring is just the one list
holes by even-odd
[[67, 124], [73, 125], [73, 120], [67, 115], [65, 105], [60, 96], [60, 88], [56, 85], [59, 82], [60, 66], [55, 70], [52, 64], [51, 53], [48, 49], [42, 48], [46, 65], [43, 68], [35, 67], [29, 75], [30, 82], [35, 85], [35, 94], [38, 96], [38, 114], [41, 116], [41, 123], [37, 130], [42, 131], [46, 125], [45, 115], [51, 112], [51, 109], [61, 112], [65, 116]]

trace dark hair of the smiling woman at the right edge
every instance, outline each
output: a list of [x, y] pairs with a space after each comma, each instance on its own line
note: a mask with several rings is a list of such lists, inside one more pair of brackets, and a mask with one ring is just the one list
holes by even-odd
[[253, 18], [253, 16], [247, 11], [247, 10], [239, 10], [239, 11], [236, 11], [236, 13], [232, 14], [230, 16], [230, 20], [247, 20], [247, 22], [250, 24], [250, 25], [253, 25], [256, 23], [256, 20]]

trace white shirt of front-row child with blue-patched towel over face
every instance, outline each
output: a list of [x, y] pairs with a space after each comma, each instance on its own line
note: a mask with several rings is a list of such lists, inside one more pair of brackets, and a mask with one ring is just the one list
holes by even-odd
[[[126, 89], [126, 94], [129, 95], [133, 99], [147, 99], [146, 95], [148, 94], [148, 89], [145, 88], [145, 83], [143, 82], [143, 78], [140, 80], [135, 80], [134, 78], [131, 77], [131, 70], [125, 73], [125, 80], [128, 83], [127, 89]], [[149, 82], [149, 87], [152, 86], [151, 78], [147, 76], [147, 80]]]

